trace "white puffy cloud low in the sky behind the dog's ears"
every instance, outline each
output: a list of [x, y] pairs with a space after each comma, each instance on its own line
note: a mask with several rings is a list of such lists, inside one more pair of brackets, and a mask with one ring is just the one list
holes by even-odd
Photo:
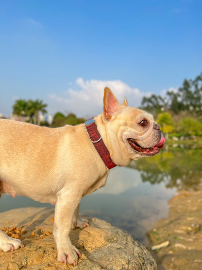
[[[69, 84], [72, 86], [72, 84]], [[51, 113], [56, 111], [73, 112], [78, 117], [96, 116], [102, 112], [104, 88], [109, 87], [122, 104], [126, 96], [129, 106], [139, 107], [143, 96], [151, 93], [143, 93], [137, 88], [131, 88], [120, 80], [101, 81], [77, 78], [74, 88], [60, 94], [50, 94], [49, 109]]]

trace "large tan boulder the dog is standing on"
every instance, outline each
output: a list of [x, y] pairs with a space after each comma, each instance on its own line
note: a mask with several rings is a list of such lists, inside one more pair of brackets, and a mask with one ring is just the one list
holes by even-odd
[[91, 217], [90, 227], [70, 232], [72, 244], [82, 253], [78, 265], [58, 262], [53, 216], [54, 208], [20, 208], [0, 214], [1, 228], [18, 235], [25, 246], [14, 252], [0, 251], [0, 270], [157, 269], [152, 255], [130, 234]]

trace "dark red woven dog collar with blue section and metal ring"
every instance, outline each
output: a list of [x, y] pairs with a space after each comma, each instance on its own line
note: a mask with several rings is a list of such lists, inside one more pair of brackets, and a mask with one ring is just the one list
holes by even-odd
[[97, 125], [95, 120], [91, 118], [90, 120], [85, 122], [85, 129], [87, 130], [90, 141], [95, 146], [98, 154], [100, 155], [102, 161], [107, 166], [108, 169], [112, 169], [117, 166], [111, 159], [109, 150], [107, 149], [106, 145], [104, 144], [101, 134], [97, 129]]

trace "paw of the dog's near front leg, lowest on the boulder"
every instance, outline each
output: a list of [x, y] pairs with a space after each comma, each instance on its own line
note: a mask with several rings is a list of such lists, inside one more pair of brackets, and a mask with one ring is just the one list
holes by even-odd
[[61, 263], [70, 264], [70, 265], [77, 265], [78, 263], [78, 256], [81, 257], [81, 253], [75, 248], [73, 245], [68, 250], [58, 250], [57, 259]]

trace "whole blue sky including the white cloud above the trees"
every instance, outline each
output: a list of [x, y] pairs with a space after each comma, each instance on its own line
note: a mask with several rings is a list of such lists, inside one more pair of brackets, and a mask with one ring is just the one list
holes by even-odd
[[101, 113], [202, 72], [202, 0], [0, 0], [0, 113], [16, 99], [48, 112]]

